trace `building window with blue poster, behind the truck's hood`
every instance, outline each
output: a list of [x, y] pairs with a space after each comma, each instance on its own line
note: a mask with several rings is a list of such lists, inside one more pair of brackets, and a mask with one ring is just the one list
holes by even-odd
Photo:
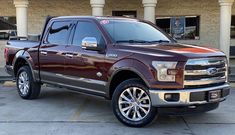
[[175, 39], [197, 40], [200, 38], [200, 17], [157, 17], [156, 24]]

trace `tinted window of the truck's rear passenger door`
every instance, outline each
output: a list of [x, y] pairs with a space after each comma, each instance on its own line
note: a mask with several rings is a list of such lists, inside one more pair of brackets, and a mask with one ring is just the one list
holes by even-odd
[[51, 44], [66, 45], [71, 22], [54, 22], [49, 31], [47, 41]]

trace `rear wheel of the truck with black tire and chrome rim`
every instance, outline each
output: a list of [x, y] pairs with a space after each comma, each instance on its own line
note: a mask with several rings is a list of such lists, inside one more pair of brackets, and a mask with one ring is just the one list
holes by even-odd
[[23, 66], [18, 70], [16, 84], [18, 93], [23, 99], [36, 99], [40, 94], [41, 85], [33, 80], [28, 66]]

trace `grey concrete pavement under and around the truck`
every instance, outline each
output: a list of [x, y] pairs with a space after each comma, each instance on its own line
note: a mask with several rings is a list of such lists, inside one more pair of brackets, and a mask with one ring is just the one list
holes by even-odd
[[219, 109], [204, 114], [159, 116], [145, 128], [117, 121], [109, 101], [43, 87], [37, 100], [22, 100], [15, 87], [0, 86], [0, 134], [234, 135], [235, 92]]

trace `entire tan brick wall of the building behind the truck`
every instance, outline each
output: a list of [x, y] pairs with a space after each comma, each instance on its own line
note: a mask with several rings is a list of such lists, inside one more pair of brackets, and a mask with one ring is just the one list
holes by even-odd
[[[29, 33], [41, 33], [47, 15], [90, 15], [90, 0], [29, 0]], [[234, 4], [235, 5], [235, 4]], [[112, 10], [136, 10], [143, 18], [142, 0], [106, 0], [105, 15]], [[218, 0], [158, 0], [157, 16], [200, 16], [200, 40], [182, 40], [211, 47], [219, 47], [219, 3]], [[0, 0], [0, 16], [15, 16], [12, 0]], [[233, 8], [235, 14], [235, 6]], [[235, 40], [232, 40], [232, 45]]]

